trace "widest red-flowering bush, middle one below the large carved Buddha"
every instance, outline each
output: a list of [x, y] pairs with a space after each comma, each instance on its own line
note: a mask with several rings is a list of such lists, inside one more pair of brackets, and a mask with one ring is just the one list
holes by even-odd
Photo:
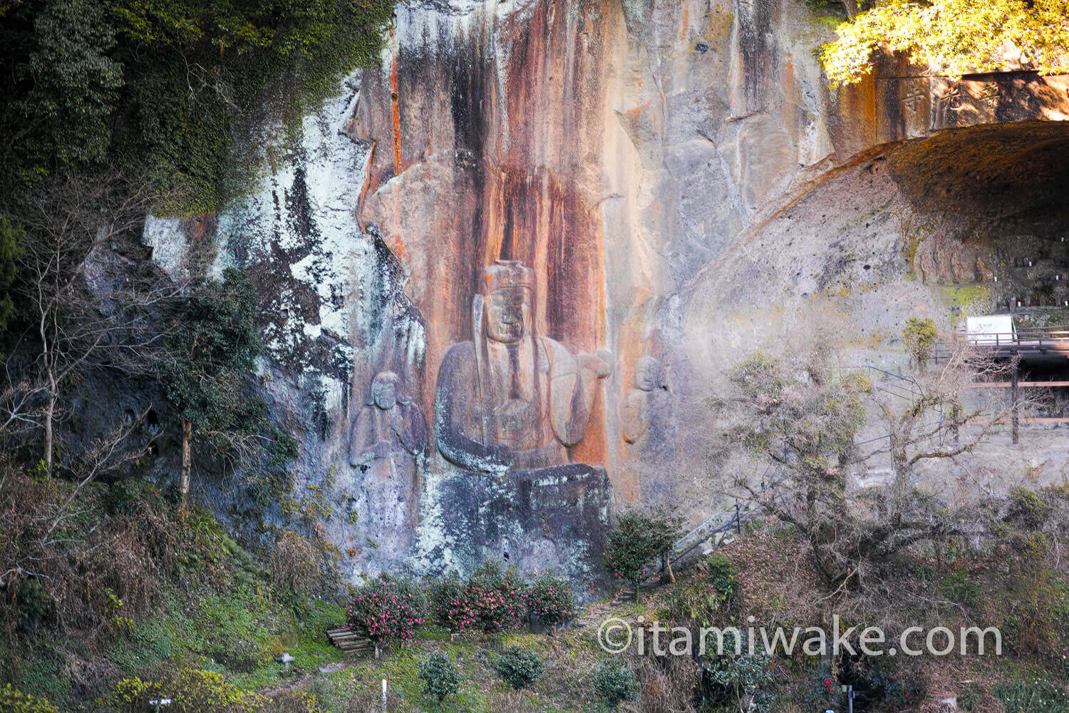
[[458, 579], [438, 583], [433, 603], [438, 622], [451, 631], [508, 631], [527, 616], [527, 585], [515, 570], [502, 572], [496, 562], [483, 562], [464, 584]]

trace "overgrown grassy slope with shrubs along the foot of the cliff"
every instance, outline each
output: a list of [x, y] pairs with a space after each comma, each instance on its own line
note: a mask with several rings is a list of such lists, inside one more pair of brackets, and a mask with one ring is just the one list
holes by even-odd
[[[870, 711], [938, 711], [948, 695], [965, 701], [962, 710], [1069, 711], [1069, 580], [1056, 544], [1065, 489], [1017, 491], [992, 505], [1001, 534], [983, 548], [902, 554], [884, 563], [879, 584], [837, 601], [843, 629], [880, 625], [888, 636], [907, 625], [998, 626], [1003, 656], [843, 657], [828, 668], [800, 650], [728, 653], [706, 658], [704, 678], [690, 656], [659, 655], [649, 631], [645, 652], [632, 647], [617, 655], [599, 646], [598, 627], [609, 617], [629, 622], [636, 635], [654, 621], [695, 632], [701, 625], [745, 631], [749, 617], [755, 626], [818, 623], [826, 596], [821, 576], [811, 548], [790, 529], [750, 521], [732, 544], [699, 558], [675, 584], [640, 602], [623, 596], [580, 609], [556, 633], [530, 633], [508, 605], [479, 604], [486, 592], [506, 601], [526, 587], [500, 570], [460, 584], [482, 587], [465, 605], [475, 607], [464, 609], [474, 611], [471, 623], [441, 609], [440, 602], [448, 608], [463, 596], [453, 593], [458, 583], [427, 583], [424, 590], [446, 591], [448, 599], [435, 599], [425, 623], [408, 634], [384, 636], [375, 660], [370, 652], [346, 657], [327, 641], [325, 631], [345, 623], [353, 600], [339, 595], [345, 588], [334, 576], [332, 554], [315, 544], [314, 533], [290, 530], [273, 548], [250, 552], [211, 514], [195, 508], [182, 515], [177, 493], [148, 481], [90, 486], [50, 530], [53, 506], [68, 489], [11, 472], [0, 487], [0, 564], [15, 592], [0, 604], [0, 684], [11, 686], [4, 710], [16, 713], [50, 706], [133, 713], [157, 694], [182, 701], [172, 710], [190, 713], [342, 713], [378, 704], [384, 678], [388, 710], [405, 712], [608, 710], [616, 691], [620, 710], [726, 713], [753, 702], [752, 710], [788, 713], [837, 704], [842, 683], [866, 692]], [[353, 589], [356, 601], [373, 586]], [[549, 611], [549, 590], [541, 591], [542, 610]], [[450, 627], [460, 633], [450, 636]], [[662, 649], [670, 638], [662, 634]], [[538, 662], [520, 687], [508, 681], [523, 664], [501, 664], [515, 647]], [[293, 656], [289, 670], [276, 661], [283, 651]], [[446, 654], [456, 673], [440, 706], [421, 673], [434, 652]]]

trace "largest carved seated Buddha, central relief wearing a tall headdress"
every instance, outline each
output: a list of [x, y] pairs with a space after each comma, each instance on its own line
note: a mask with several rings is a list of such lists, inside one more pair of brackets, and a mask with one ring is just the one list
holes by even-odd
[[472, 299], [471, 341], [454, 344], [438, 370], [437, 445], [469, 470], [505, 472], [563, 465], [583, 439], [610, 355], [573, 355], [536, 332], [534, 274], [520, 261], [483, 270]]

